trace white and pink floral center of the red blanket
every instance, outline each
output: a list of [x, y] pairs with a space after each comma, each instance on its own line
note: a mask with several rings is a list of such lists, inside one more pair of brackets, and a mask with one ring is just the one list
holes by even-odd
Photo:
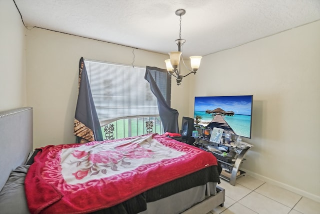
[[[152, 135], [124, 141], [87, 143], [50, 152], [59, 155], [46, 162], [43, 178], [71, 191], [144, 173], [189, 156], [184, 151], [162, 145]], [[70, 185], [76, 188], [70, 188]]]

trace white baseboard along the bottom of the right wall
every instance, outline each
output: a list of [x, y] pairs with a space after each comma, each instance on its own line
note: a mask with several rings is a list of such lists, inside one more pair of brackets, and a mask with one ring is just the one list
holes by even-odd
[[293, 186], [287, 185], [285, 183], [281, 183], [279, 181], [276, 181], [276, 180], [273, 180], [271, 178], [262, 176], [260, 174], [254, 173], [252, 171], [249, 171], [247, 169], [241, 169], [241, 170], [244, 170], [246, 172], [246, 174], [250, 175], [251, 177], [254, 177], [254, 178], [259, 179], [259, 180], [263, 180], [263, 181], [268, 182], [270, 184], [273, 184], [275, 186], [279, 186], [279, 187], [281, 187], [283, 189], [289, 190], [289, 191], [294, 192], [296, 194], [299, 194], [301, 196], [304, 196], [304, 197], [307, 197], [307, 198], [312, 199], [314, 201], [320, 202], [320, 196], [319, 195], [315, 195], [315, 194], [312, 194], [310, 192], [306, 192], [306, 191], [304, 191], [302, 189], [298, 189], [298, 188], [295, 188]]

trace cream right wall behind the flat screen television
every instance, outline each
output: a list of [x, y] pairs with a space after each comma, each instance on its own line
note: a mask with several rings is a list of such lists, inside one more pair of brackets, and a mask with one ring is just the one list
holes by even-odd
[[203, 57], [190, 97], [252, 94], [242, 167], [320, 201], [319, 81], [320, 21]]

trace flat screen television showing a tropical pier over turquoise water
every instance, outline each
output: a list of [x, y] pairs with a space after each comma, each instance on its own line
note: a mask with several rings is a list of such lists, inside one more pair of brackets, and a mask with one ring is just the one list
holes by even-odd
[[194, 97], [194, 126], [251, 138], [252, 95]]

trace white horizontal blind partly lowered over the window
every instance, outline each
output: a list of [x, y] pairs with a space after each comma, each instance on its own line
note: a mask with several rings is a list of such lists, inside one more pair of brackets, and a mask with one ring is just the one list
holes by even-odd
[[[145, 68], [91, 60], [84, 64], [101, 125], [120, 118], [159, 114], [156, 98], [144, 79]], [[165, 75], [156, 78], [164, 97]]]

